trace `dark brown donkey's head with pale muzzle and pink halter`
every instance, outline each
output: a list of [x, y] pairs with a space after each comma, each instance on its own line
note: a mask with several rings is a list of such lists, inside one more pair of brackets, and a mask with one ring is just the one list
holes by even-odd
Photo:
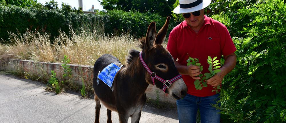
[[[171, 54], [162, 46], [168, 30], [170, 17], [156, 35], [155, 22], [150, 23], [146, 38], [141, 40], [141, 62], [144, 61], [150, 69], [145, 80], [155, 84], [157, 88], [172, 95], [176, 99], [186, 96], [187, 87], [181, 78]], [[144, 65], [145, 63], [142, 62]], [[151, 75], [151, 76], [150, 76]]]

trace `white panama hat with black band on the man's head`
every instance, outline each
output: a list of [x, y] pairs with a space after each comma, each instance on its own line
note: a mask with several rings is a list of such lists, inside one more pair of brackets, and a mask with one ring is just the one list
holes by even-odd
[[174, 13], [191, 13], [204, 9], [210, 5], [211, 0], [179, 0], [180, 5], [174, 9]]

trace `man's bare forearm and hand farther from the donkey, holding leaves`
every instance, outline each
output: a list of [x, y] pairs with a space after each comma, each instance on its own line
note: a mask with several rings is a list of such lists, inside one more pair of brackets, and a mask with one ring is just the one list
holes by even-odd
[[225, 56], [225, 64], [221, 67], [221, 72], [213, 76], [212, 78], [206, 80], [207, 84], [210, 84], [211, 86], [219, 86], [221, 82], [223, 81], [223, 78], [225, 75], [227, 75], [229, 72], [235, 68], [236, 65], [236, 55], [235, 53], [231, 53], [229, 55]]

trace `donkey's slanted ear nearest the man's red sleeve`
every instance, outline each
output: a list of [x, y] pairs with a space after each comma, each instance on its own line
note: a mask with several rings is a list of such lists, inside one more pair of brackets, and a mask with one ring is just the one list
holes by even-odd
[[155, 41], [156, 44], [162, 44], [164, 42], [166, 34], [167, 34], [168, 26], [169, 26], [169, 21], [170, 21], [170, 16], [167, 17], [164, 26], [158, 32], [156, 41]]

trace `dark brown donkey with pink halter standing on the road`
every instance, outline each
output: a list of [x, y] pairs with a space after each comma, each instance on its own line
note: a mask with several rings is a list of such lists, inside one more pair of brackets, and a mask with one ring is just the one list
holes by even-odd
[[[94, 100], [96, 101], [95, 123], [99, 122], [101, 103], [107, 108], [107, 122], [111, 123], [111, 111], [118, 112], [120, 123], [138, 123], [146, 102], [145, 90], [149, 84], [156, 85], [175, 99], [186, 96], [187, 87], [176, 69], [173, 57], [162, 46], [170, 17], [156, 35], [155, 22], [150, 23], [146, 37], [139, 39], [142, 51], [130, 50], [126, 64], [114, 77], [113, 90], [97, 76], [106, 66], [120, 62], [116, 57], [104, 54], [94, 64]], [[156, 79], [156, 80], [155, 80]]]

